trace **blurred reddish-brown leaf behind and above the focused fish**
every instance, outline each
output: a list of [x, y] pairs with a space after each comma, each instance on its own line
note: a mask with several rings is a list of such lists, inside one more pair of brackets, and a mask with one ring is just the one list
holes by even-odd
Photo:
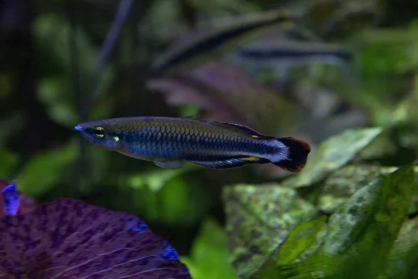
[[208, 120], [252, 126], [277, 135], [295, 116], [291, 101], [272, 87], [251, 80], [245, 70], [210, 61], [188, 74], [150, 80], [148, 88], [161, 91], [171, 105], [194, 104]]

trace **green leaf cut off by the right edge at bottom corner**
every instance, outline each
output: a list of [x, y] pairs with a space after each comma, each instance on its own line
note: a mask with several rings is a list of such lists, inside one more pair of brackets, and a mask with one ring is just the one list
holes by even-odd
[[403, 223], [389, 254], [387, 279], [415, 278], [418, 274], [418, 217]]

